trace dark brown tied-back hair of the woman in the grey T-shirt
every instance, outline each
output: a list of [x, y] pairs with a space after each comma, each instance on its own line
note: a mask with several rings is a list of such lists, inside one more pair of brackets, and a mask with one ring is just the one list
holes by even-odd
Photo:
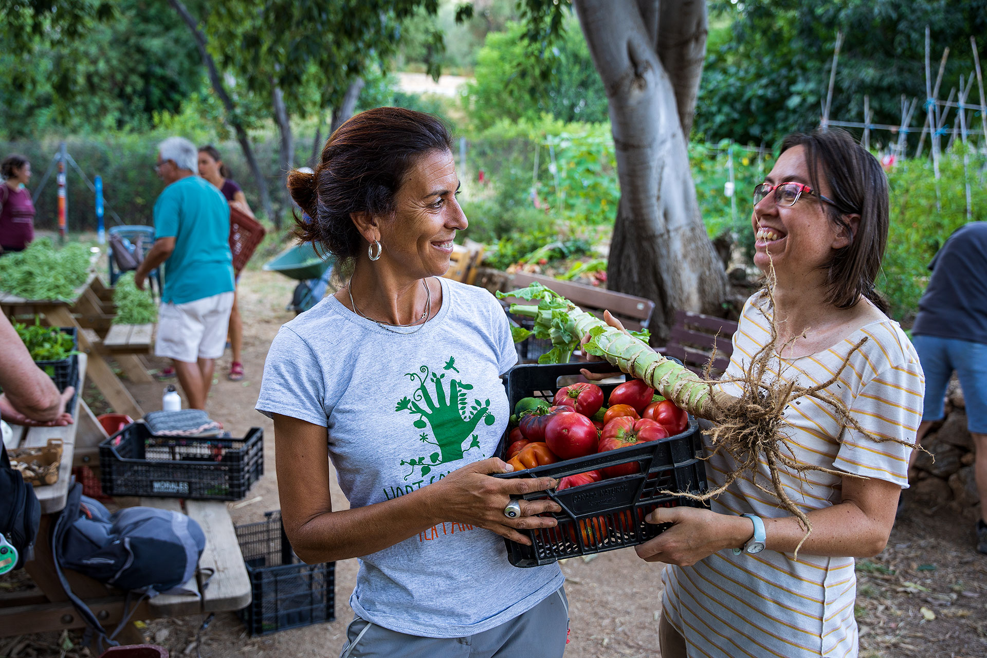
[[351, 214], [389, 215], [418, 158], [451, 151], [452, 136], [436, 116], [404, 108], [355, 114], [330, 136], [312, 174], [293, 170], [288, 190], [307, 218], [295, 214], [295, 235], [340, 258], [354, 258], [361, 240]]

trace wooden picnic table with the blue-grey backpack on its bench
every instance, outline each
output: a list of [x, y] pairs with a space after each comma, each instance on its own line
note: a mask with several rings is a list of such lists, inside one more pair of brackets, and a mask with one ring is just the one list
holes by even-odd
[[[79, 382], [84, 381], [87, 367], [85, 354], [79, 356]], [[58, 513], [64, 509], [71, 483], [71, 468], [77, 443], [92, 445], [106, 433], [96, 433], [91, 423], [80, 420], [81, 396], [73, 409], [77, 422], [63, 427], [13, 426], [22, 447], [43, 446], [49, 438], [63, 441], [58, 481], [35, 487], [41, 503], [41, 523], [35, 542], [35, 559], [25, 565], [38, 590], [0, 593], [0, 637], [85, 625], [58, 580], [51, 554], [51, 529]], [[243, 554], [237, 542], [233, 521], [226, 503], [219, 500], [188, 500], [185, 509], [177, 498], [140, 498], [140, 505], [184, 511], [202, 527], [206, 545], [199, 558], [198, 570], [186, 588], [195, 595], [158, 595], [142, 601], [132, 620], [179, 617], [201, 613], [240, 610], [251, 602], [251, 583]], [[208, 570], [214, 573], [206, 578]], [[108, 632], [122, 619], [126, 599], [122, 592], [83, 574], [66, 570], [72, 591], [87, 603]], [[131, 603], [132, 605], [132, 603]], [[140, 643], [143, 637], [132, 623], [121, 629], [117, 639], [123, 643]]]

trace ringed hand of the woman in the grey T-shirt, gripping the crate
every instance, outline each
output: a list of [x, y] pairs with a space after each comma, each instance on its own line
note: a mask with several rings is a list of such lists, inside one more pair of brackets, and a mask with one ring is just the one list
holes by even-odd
[[421, 491], [431, 493], [431, 516], [434, 518], [480, 526], [518, 544], [530, 546], [531, 541], [516, 529], [552, 528], [558, 525], [554, 517], [538, 515], [561, 512], [562, 508], [558, 503], [544, 498], [519, 500], [521, 513], [513, 519], [505, 516], [503, 510], [511, 501], [511, 494], [543, 491], [557, 486], [559, 481], [552, 477], [491, 477], [491, 474], [510, 473], [513, 470], [514, 467], [493, 457], [453, 471]]

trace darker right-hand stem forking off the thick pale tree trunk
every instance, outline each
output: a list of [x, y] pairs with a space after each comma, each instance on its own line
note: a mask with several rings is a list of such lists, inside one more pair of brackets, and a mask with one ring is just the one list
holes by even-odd
[[671, 81], [682, 133], [688, 139], [706, 57], [706, 0], [664, 0], [660, 7], [658, 58]]

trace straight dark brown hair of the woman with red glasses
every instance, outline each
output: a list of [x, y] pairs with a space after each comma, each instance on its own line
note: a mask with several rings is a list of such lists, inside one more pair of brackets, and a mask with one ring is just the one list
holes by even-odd
[[[823, 206], [830, 220], [850, 235], [850, 244], [837, 250], [823, 265], [826, 302], [848, 309], [863, 295], [886, 312], [887, 303], [873, 288], [887, 246], [888, 188], [884, 170], [867, 149], [838, 128], [791, 134], [782, 142], [781, 152], [796, 146], [805, 149], [812, 187], [821, 189], [820, 178], [829, 183], [829, 197], [836, 205]], [[849, 214], [860, 215], [856, 234], [844, 219]]]

